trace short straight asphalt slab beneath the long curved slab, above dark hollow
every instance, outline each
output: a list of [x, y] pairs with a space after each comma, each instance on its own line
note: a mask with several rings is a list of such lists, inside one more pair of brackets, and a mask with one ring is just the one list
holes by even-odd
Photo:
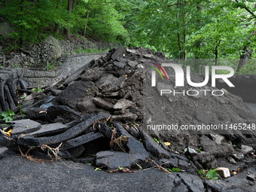
[[87, 142], [91, 142], [95, 139], [102, 137], [101, 133], [87, 133], [83, 136], [78, 136], [75, 139], [70, 139], [69, 141], [63, 142], [61, 148], [62, 150], [67, 150], [70, 148], [78, 147], [79, 145], [84, 145]]

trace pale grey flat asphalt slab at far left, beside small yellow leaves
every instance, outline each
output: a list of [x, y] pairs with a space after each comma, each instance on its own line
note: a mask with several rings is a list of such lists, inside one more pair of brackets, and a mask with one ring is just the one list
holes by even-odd
[[14, 123], [13, 125], [14, 130], [11, 132], [11, 135], [14, 138], [17, 138], [21, 134], [32, 133], [36, 130], [39, 130], [41, 127], [41, 123], [38, 123], [34, 120], [29, 120], [29, 119], [14, 120], [14, 121], [11, 121], [11, 123]]

